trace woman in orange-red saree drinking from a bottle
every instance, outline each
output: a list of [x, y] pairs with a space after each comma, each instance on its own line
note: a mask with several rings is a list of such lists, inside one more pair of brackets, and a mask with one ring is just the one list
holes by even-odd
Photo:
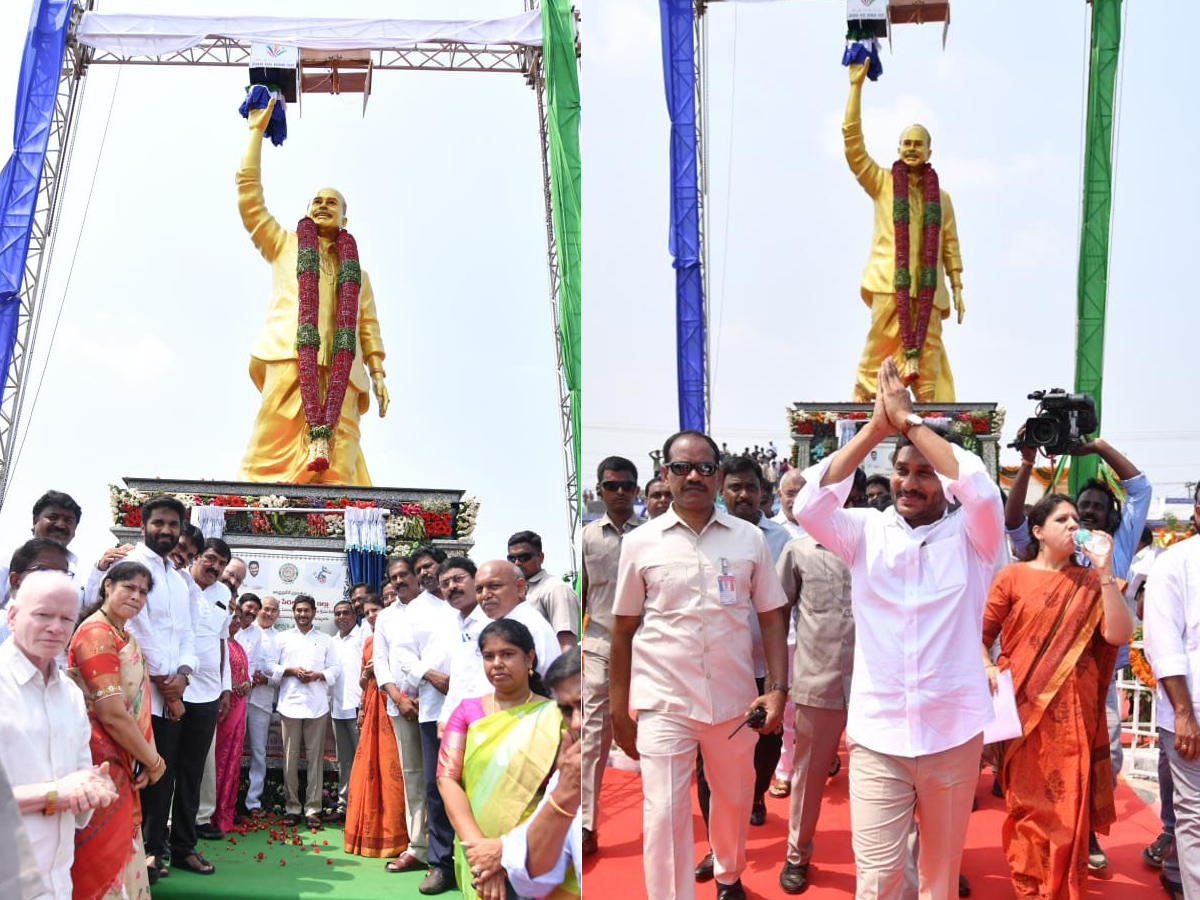
[[983, 619], [984, 665], [1000, 635], [1013, 673], [1021, 737], [1000, 770], [1008, 817], [1001, 832], [1019, 898], [1075, 900], [1087, 876], [1088, 829], [1116, 817], [1104, 700], [1117, 647], [1133, 618], [1112, 576], [1112, 541], [1074, 562], [1079, 516], [1070, 498], [1044, 497], [1030, 512], [1026, 562], [996, 575]]

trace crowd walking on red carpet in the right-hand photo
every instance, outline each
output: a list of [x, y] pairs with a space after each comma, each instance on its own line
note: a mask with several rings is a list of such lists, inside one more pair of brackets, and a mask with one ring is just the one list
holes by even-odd
[[[870, 420], [782, 475], [774, 518], [760, 463], [700, 432], [664, 444], [646, 521], [636, 467], [600, 464], [606, 515], [583, 538], [583, 852], [604, 850], [612, 739], [640, 760], [648, 896], [715, 878], [719, 900], [744, 898], [768, 792], [788, 798], [780, 889], [803, 893], [821, 880], [817, 822], [845, 734], [858, 898], [970, 894], [960, 864], [988, 763], [1016, 896], [1079, 898], [1108, 866], [1114, 677], [1136, 608], [1163, 761], [1164, 833], [1142, 856], [1168, 895], [1200, 898], [1200, 540], [1148, 546], [1148, 480], [1099, 438], [1078, 454], [1108, 463], [1123, 503], [1091, 480], [1027, 505], [1031, 450], [1003, 498], [978, 456], [913, 412], [893, 362], [878, 377]], [[890, 478], [868, 479], [884, 440]], [[1195, 500], [1200, 516], [1200, 488]], [[985, 746], [1004, 692], [1019, 732]], [[698, 864], [694, 776], [710, 846]]]

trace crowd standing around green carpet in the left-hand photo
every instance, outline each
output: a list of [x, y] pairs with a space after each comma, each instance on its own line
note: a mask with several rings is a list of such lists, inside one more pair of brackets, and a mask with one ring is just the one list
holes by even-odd
[[278, 598], [241, 592], [246, 565], [174, 497], [148, 499], [142, 539], [95, 565], [70, 550], [80, 515], [47, 492], [4, 572], [0, 895], [139, 900], [172, 874], [220, 878], [199, 840], [271, 814], [275, 721], [284, 827], [344, 824], [346, 852], [424, 871], [421, 894], [580, 894], [580, 600], [538, 534], [478, 568], [432, 545], [394, 557], [326, 634], [308, 595], [281, 623]]

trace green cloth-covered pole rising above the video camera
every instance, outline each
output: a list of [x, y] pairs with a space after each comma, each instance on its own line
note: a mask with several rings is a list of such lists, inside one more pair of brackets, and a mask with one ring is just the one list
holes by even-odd
[[[1084, 148], [1084, 226], [1079, 246], [1079, 320], [1075, 390], [1092, 395], [1100, 416], [1104, 386], [1104, 307], [1112, 222], [1112, 106], [1121, 48], [1121, 0], [1091, 0], [1092, 47], [1087, 72], [1087, 142]], [[1072, 460], [1072, 494], [1099, 469], [1096, 456]]]

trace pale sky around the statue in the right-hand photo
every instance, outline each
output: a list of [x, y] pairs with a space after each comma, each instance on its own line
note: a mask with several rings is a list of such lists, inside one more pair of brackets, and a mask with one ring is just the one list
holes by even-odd
[[[1102, 431], [1156, 497], [1180, 496], [1200, 478], [1200, 120], [1156, 11], [1124, 7]], [[790, 445], [792, 402], [850, 398], [872, 212], [841, 148], [845, 8], [708, 6], [710, 431], [731, 448]], [[905, 126], [932, 132], [965, 263], [966, 320], [946, 324], [958, 397], [1006, 407], [1006, 442], [1026, 394], [1074, 383], [1088, 16], [1082, 0], [958, 0], [944, 50], [941, 25], [900, 26], [864, 90], [881, 164]], [[584, 35], [584, 474], [616, 452], [644, 482], [678, 425], [658, 4], [593, 4]]]

